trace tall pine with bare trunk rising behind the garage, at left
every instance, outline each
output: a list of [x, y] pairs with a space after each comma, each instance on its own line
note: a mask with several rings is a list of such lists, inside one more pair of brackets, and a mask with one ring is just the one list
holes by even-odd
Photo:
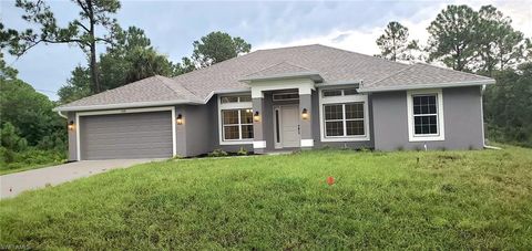
[[28, 29], [19, 34], [20, 43], [12, 53], [24, 54], [39, 43], [69, 43], [76, 44], [89, 57], [91, 70], [92, 91], [101, 91], [96, 66], [96, 43], [111, 43], [109, 35], [96, 35], [96, 27], [108, 32], [116, 28], [116, 20], [110, 18], [120, 9], [119, 0], [72, 0], [80, 9], [79, 18], [69, 22], [64, 28], [58, 25], [53, 12], [44, 1], [17, 0], [16, 6], [23, 9], [22, 19], [39, 25], [39, 32]]

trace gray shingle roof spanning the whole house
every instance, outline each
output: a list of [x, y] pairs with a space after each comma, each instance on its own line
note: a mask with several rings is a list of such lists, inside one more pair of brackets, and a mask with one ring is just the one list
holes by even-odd
[[214, 92], [248, 90], [249, 85], [241, 81], [246, 76], [283, 75], [300, 72], [319, 73], [325, 85], [364, 81], [364, 88], [399, 86], [406, 83], [441, 84], [487, 79], [429, 65], [408, 65], [314, 44], [258, 50], [173, 79], [149, 77], [65, 104], [58, 109], [74, 111], [76, 107], [83, 106], [161, 101], [203, 103]]

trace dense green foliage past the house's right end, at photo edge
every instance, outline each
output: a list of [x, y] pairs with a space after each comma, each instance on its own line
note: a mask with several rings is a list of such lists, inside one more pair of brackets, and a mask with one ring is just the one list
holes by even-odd
[[532, 147], [532, 63], [494, 75], [484, 93], [490, 138]]

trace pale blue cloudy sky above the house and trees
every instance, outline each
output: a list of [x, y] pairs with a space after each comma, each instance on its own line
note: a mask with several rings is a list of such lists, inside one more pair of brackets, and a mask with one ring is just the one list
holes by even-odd
[[[79, 10], [68, 0], [48, 0], [60, 24]], [[447, 4], [467, 3], [478, 10], [492, 4], [509, 15], [512, 25], [532, 36], [532, 0], [505, 1], [170, 1], [122, 0], [115, 18], [123, 27], [145, 31], [152, 45], [173, 62], [192, 54], [195, 40], [212, 31], [241, 36], [252, 51], [320, 43], [365, 54], [377, 54], [376, 39], [390, 21], [409, 29], [410, 39], [424, 44], [427, 27]], [[17, 30], [30, 25], [12, 0], [0, 0], [0, 20]], [[104, 46], [99, 46], [103, 52]], [[7, 53], [4, 53], [7, 54]], [[19, 77], [58, 100], [57, 91], [66, 83], [76, 65], [86, 57], [75, 45], [40, 44], [23, 56], [6, 55], [19, 70]]]

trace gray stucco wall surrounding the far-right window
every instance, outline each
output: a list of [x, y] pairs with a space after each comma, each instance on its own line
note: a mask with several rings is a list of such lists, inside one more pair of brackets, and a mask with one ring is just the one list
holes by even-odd
[[372, 94], [375, 148], [397, 149], [481, 149], [481, 87], [443, 88], [444, 136], [442, 142], [409, 142], [407, 92]]

